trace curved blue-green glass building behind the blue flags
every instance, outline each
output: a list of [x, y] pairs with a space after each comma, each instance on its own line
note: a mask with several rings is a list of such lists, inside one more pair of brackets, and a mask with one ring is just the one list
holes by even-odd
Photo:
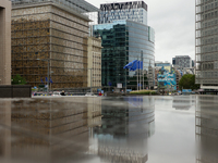
[[[93, 26], [93, 35], [101, 36], [101, 83], [102, 87], [117, 87], [122, 84], [123, 88], [137, 89], [138, 83], [145, 87], [154, 86], [154, 29], [142, 23], [121, 20], [113, 23], [98, 24]], [[123, 67], [133, 60], [143, 61], [143, 71], [130, 72]], [[144, 74], [144, 75], [143, 75]], [[148, 75], [152, 74], [152, 84]], [[143, 79], [144, 77], [144, 79]], [[150, 78], [150, 77], [149, 77]]]

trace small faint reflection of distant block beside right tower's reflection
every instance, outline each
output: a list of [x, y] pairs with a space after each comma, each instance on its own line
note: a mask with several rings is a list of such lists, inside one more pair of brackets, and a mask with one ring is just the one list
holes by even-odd
[[175, 110], [190, 110], [195, 104], [195, 96], [174, 96], [172, 108]]

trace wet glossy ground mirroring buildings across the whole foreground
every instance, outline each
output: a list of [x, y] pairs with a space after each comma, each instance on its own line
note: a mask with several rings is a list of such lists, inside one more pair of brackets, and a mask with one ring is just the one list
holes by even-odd
[[217, 153], [217, 96], [0, 99], [1, 163], [214, 163]]

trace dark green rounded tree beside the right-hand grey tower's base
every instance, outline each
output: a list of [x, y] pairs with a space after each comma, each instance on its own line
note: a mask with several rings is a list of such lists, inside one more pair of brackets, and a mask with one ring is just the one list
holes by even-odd
[[199, 85], [195, 84], [195, 75], [185, 74], [179, 82], [180, 89], [199, 89]]

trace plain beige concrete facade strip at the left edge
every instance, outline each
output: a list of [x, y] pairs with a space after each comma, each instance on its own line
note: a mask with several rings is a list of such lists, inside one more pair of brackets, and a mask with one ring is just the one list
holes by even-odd
[[0, 0], [0, 85], [11, 85], [11, 1]]

